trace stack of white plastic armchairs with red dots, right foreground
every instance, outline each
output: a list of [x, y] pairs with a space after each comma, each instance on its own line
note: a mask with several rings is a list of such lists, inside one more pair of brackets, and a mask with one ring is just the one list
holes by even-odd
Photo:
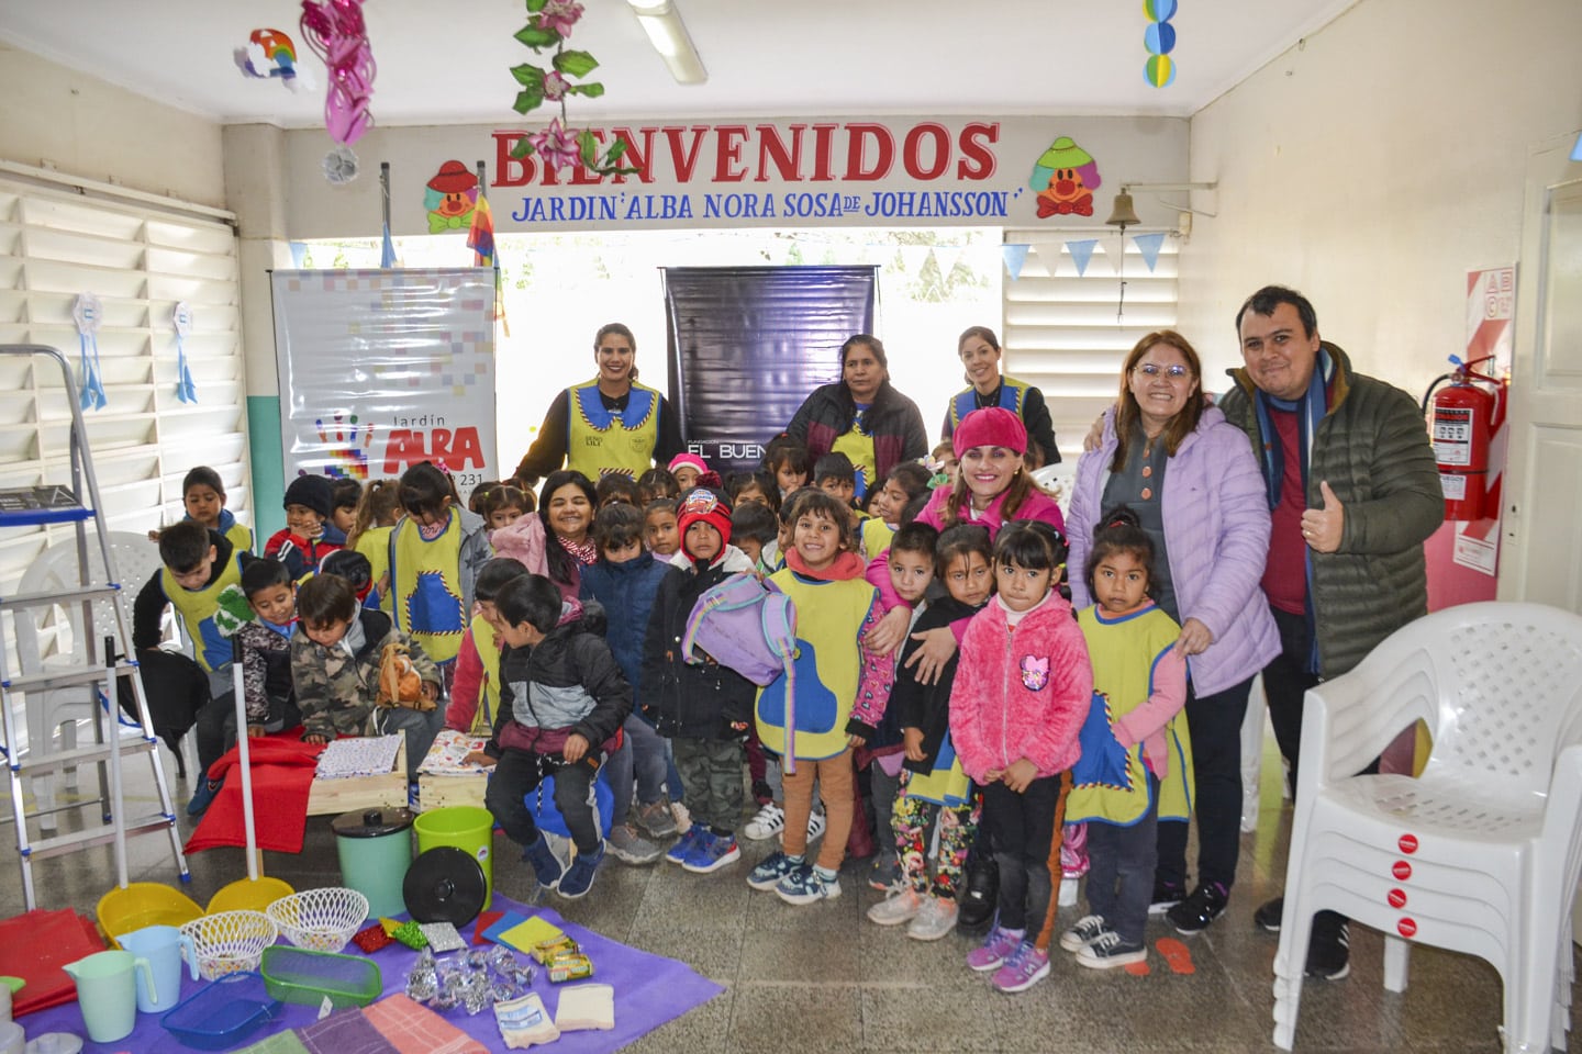
[[[1421, 777], [1354, 776], [1422, 719]], [[1489, 961], [1504, 1051], [1566, 1046], [1582, 863], [1582, 616], [1467, 604], [1392, 634], [1308, 691], [1275, 956], [1275, 1045], [1291, 1049], [1313, 913], [1381, 929], [1384, 988], [1410, 940]]]

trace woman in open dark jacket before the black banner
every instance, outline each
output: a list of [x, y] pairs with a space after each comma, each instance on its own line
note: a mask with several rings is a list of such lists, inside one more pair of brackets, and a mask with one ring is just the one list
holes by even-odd
[[840, 346], [840, 379], [802, 401], [786, 435], [807, 447], [810, 465], [831, 452], [850, 457], [859, 501], [894, 466], [929, 454], [918, 405], [891, 387], [884, 344], [867, 333]]

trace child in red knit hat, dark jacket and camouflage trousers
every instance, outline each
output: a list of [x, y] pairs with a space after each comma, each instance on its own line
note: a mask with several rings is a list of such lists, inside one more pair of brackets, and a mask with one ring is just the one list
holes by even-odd
[[753, 683], [717, 662], [688, 664], [682, 637], [693, 605], [707, 589], [753, 564], [731, 545], [725, 495], [696, 487], [677, 510], [680, 551], [660, 582], [642, 653], [642, 705], [671, 740], [691, 826], [664, 855], [693, 874], [740, 860], [742, 741], [751, 721]]

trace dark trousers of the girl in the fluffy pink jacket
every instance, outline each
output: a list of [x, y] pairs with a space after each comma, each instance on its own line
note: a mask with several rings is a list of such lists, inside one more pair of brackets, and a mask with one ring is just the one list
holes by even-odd
[[998, 924], [1028, 932], [1028, 940], [1054, 909], [1049, 855], [1062, 796], [1060, 776], [1038, 777], [1022, 793], [998, 781], [984, 787], [982, 822], [1000, 863]]

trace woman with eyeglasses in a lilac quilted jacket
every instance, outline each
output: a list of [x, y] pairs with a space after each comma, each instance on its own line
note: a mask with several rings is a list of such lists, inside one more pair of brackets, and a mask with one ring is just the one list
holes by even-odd
[[[1297, 496], [1300, 499], [1300, 495]], [[1253, 678], [1280, 653], [1259, 585], [1269, 495], [1247, 435], [1202, 400], [1202, 363], [1174, 330], [1126, 356], [1098, 449], [1077, 461], [1071, 605], [1093, 604], [1084, 574], [1101, 510], [1128, 506], [1153, 542], [1149, 593], [1182, 627], [1186, 725], [1196, 766], [1198, 885], [1186, 893], [1186, 823], [1160, 823], [1150, 912], [1194, 934], [1224, 912], [1242, 825], [1242, 716]]]

